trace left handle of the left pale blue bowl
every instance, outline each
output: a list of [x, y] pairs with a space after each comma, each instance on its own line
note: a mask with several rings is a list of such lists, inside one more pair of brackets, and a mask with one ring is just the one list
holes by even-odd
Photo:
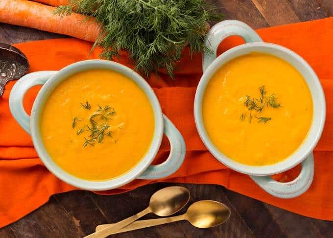
[[16, 121], [28, 133], [30, 131], [30, 117], [23, 107], [23, 99], [26, 92], [36, 85], [45, 84], [48, 79], [58, 71], [38, 71], [24, 75], [12, 88], [9, 95], [9, 109]]

